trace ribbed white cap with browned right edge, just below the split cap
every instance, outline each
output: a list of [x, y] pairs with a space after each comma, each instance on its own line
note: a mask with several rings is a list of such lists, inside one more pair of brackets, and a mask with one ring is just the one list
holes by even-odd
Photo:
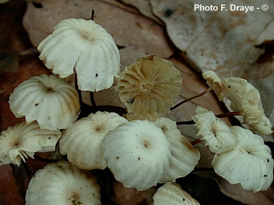
[[26, 123], [36, 120], [41, 129], [66, 129], [80, 113], [79, 96], [74, 87], [55, 75], [34, 76], [19, 84], [9, 97], [16, 118]]

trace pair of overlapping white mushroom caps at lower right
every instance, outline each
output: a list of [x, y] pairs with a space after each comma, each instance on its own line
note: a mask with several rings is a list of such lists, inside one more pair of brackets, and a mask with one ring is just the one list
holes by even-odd
[[230, 184], [240, 183], [244, 190], [269, 189], [273, 181], [273, 158], [262, 137], [238, 126], [229, 127], [212, 111], [198, 107], [192, 116], [203, 135], [205, 146], [215, 155], [211, 164], [216, 174]]

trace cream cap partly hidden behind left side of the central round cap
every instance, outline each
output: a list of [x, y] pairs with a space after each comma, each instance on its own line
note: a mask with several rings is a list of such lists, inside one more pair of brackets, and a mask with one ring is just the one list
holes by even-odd
[[105, 169], [101, 141], [104, 136], [127, 120], [116, 113], [96, 112], [76, 121], [60, 140], [60, 152], [80, 169]]

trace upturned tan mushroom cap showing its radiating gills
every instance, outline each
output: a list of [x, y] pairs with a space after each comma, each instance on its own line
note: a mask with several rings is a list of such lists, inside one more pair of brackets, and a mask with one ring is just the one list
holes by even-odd
[[120, 75], [116, 90], [127, 107], [128, 120], [155, 120], [170, 112], [174, 98], [180, 94], [180, 71], [155, 55], [138, 58]]

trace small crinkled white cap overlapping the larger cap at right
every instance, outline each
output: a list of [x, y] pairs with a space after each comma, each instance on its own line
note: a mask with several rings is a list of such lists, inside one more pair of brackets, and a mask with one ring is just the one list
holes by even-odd
[[195, 121], [195, 126], [199, 131], [196, 136], [202, 135], [201, 140], [206, 140], [205, 146], [209, 145], [211, 152], [218, 152], [220, 148], [230, 149], [237, 147], [239, 141], [227, 124], [220, 118], [215, 117], [213, 111], [198, 106], [196, 113], [191, 118]]

